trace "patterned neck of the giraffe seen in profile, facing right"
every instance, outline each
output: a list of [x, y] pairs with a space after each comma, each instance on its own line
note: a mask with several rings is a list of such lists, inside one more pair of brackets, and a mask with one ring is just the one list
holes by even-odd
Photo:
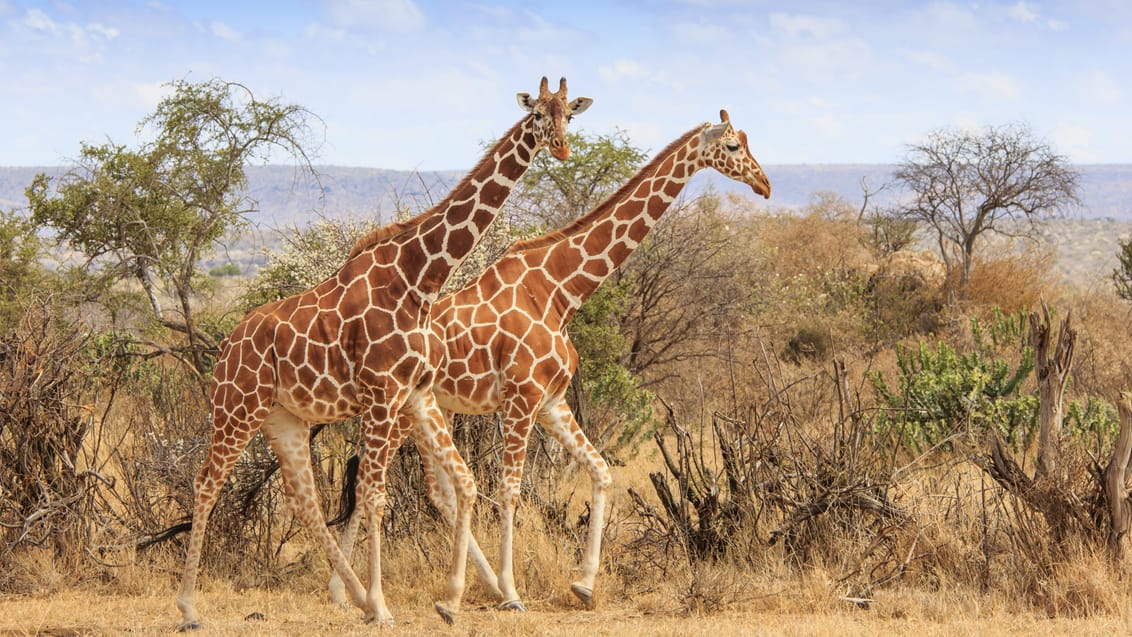
[[670, 144], [593, 210], [557, 232], [512, 248], [509, 253], [525, 253], [532, 267], [539, 267], [532, 260], [540, 261], [555, 285], [548, 311], [560, 311], [563, 321], [568, 321], [637, 249], [692, 175], [703, 167], [702, 130], [691, 130]]

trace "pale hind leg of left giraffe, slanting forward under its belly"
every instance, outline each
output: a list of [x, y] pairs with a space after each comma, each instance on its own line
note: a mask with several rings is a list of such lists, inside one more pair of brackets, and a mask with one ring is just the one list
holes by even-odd
[[272, 446], [283, 476], [283, 492], [310, 534], [321, 542], [331, 567], [344, 580], [354, 605], [367, 614], [376, 612], [366, 597], [361, 582], [350, 567], [350, 560], [338, 549], [315, 497], [315, 476], [310, 467], [310, 427], [283, 408], [275, 408], [264, 421], [264, 436]]

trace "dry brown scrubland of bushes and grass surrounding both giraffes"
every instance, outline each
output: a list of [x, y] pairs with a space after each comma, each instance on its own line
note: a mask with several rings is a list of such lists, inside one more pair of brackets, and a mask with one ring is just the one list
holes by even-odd
[[[534, 166], [469, 272], [564, 206], [569, 218], [597, 204], [643, 158], [617, 136], [573, 146], [607, 177], [556, 191], [555, 166]], [[710, 617], [721, 635], [1126, 631], [1132, 310], [1117, 291], [1132, 259], [1116, 285], [1080, 290], [1055, 281], [1050, 246], [1004, 241], [949, 267], [908, 216], [822, 193], [801, 210], [769, 204], [677, 204], [572, 325], [572, 407], [615, 473], [598, 610], [568, 592], [589, 480], [535, 431], [516, 533], [532, 612], [489, 610], [470, 573], [461, 629], [675, 635]], [[254, 277], [163, 266], [163, 281], [139, 272], [139, 243], [45, 270], [53, 248], [37, 236], [59, 225], [0, 221], [0, 629], [170, 629], [214, 344], [255, 304], [333, 272], [363, 224], [311, 225]], [[1064, 382], [1055, 421], [1050, 375]], [[490, 557], [501, 441], [492, 416], [470, 418], [455, 437]], [[355, 434], [314, 433], [328, 518]], [[326, 601], [323, 553], [275, 468], [254, 440], [213, 514], [206, 620], [221, 634], [367, 630]], [[448, 534], [411, 445], [391, 480], [386, 594], [410, 621], [398, 630], [424, 634], [440, 627]], [[44, 619], [87, 594], [122, 608]], [[245, 621], [254, 611], [267, 622]]]

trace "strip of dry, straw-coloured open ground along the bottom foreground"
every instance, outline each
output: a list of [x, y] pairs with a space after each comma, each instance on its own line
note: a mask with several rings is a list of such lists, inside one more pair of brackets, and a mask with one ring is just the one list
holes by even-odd
[[[903, 605], [903, 604], [901, 604]], [[636, 608], [603, 608], [594, 612], [567, 609], [532, 610], [525, 614], [465, 608], [454, 627], [445, 626], [427, 606], [395, 608], [398, 622], [391, 635], [603, 635], [663, 637], [668, 635], [1127, 635], [1132, 616], [1089, 619], [1047, 619], [1034, 613], [1009, 613], [969, 603], [947, 617], [926, 603], [923, 614], [886, 612], [883, 602], [872, 610], [813, 609], [812, 612], [732, 610], [706, 616], [648, 612]], [[200, 599], [207, 628], [201, 635], [374, 635], [381, 630], [361, 622], [357, 611], [343, 611], [309, 593], [250, 589], [206, 589]], [[265, 619], [246, 619], [251, 613]], [[903, 616], [903, 617], [901, 617]], [[51, 596], [0, 600], [0, 635], [165, 635], [179, 613], [173, 591], [144, 595], [71, 591]]]

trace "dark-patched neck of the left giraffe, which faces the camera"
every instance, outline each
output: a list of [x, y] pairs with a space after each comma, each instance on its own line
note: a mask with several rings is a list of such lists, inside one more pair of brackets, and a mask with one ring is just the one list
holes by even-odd
[[409, 289], [435, 298], [499, 216], [538, 150], [532, 118], [528, 115], [483, 154], [443, 201], [363, 238], [351, 258], [388, 239], [400, 247], [396, 264]]

